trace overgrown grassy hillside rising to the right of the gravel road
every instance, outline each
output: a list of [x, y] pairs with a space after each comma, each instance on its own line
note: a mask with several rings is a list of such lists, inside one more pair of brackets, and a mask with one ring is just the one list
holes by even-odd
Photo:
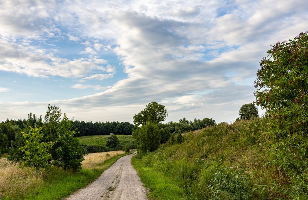
[[169, 140], [132, 163], [153, 199], [286, 199], [278, 185], [292, 188], [292, 178], [281, 166], [264, 166], [271, 148], [266, 123], [222, 123], [183, 134], [181, 144]]

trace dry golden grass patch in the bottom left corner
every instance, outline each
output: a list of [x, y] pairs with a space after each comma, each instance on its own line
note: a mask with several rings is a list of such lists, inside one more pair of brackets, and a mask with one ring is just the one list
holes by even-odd
[[25, 194], [32, 186], [40, 184], [44, 170], [21, 167], [19, 163], [0, 158], [0, 174], [0, 198], [3, 198], [9, 194]]

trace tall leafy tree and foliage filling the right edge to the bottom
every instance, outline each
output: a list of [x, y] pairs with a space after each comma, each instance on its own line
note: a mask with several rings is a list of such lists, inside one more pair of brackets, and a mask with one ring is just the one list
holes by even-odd
[[260, 62], [255, 87], [257, 105], [269, 118], [267, 165], [278, 166], [291, 185], [275, 183], [263, 188], [279, 190], [293, 199], [308, 195], [308, 32], [277, 42]]

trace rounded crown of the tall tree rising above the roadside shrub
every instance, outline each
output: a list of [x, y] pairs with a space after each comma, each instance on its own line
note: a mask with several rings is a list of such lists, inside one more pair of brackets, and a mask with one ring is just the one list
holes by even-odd
[[150, 102], [145, 106], [144, 110], [140, 111], [138, 114], [135, 114], [134, 124], [136, 126], [144, 125], [147, 122], [163, 122], [168, 116], [168, 112], [165, 109], [165, 106], [157, 103]]

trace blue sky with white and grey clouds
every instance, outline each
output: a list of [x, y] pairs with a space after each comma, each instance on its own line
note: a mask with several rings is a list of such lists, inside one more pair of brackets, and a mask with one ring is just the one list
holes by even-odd
[[[0, 120], [232, 122], [270, 45], [308, 30], [308, 1], [0, 0]], [[262, 110], [259, 109], [259, 114]]]

